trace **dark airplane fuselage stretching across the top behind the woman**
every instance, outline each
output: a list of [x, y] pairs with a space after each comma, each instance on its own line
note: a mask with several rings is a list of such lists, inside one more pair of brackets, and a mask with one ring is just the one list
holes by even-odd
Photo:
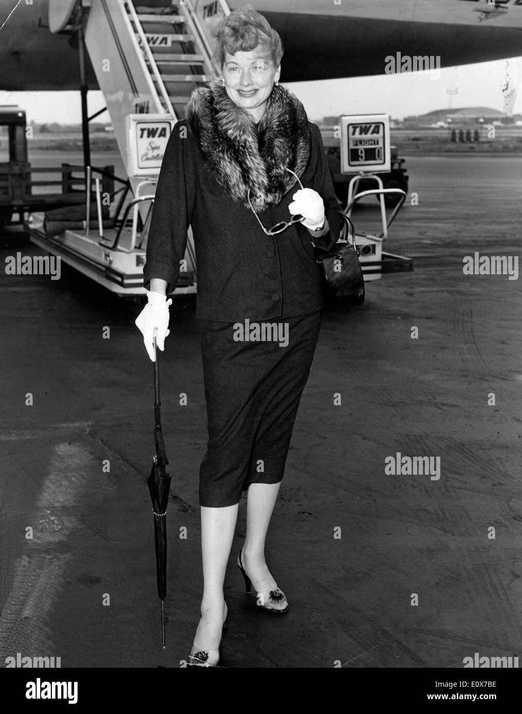
[[[186, 0], [188, 3], [190, 0]], [[110, 5], [114, 0], [106, 0]], [[85, 7], [91, 0], [84, 0]], [[170, 0], [136, 0], [157, 11]], [[204, 19], [219, 16], [218, 0], [192, 0]], [[243, 3], [231, 3], [241, 6]], [[51, 34], [49, 12], [72, 14], [75, 0], [0, 0], [0, 77], [6, 91], [78, 89], [77, 41]], [[522, 54], [522, 0], [254, 0], [283, 39], [283, 82], [383, 74], [386, 56], [439, 56], [440, 66]], [[9, 16], [9, 19], [8, 19]], [[488, 19], [487, 23], [482, 23]], [[65, 25], [64, 25], [65, 26]], [[89, 57], [86, 83], [99, 89]]]

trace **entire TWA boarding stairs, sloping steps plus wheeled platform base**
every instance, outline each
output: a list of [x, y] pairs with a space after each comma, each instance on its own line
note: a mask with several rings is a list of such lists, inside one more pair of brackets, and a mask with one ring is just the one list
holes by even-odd
[[[41, 221], [32, 226], [34, 242], [113, 292], [143, 294], [146, 235], [161, 160], [139, 168], [136, 126], [149, 127], [150, 119], [153, 129], [154, 121], [167, 123], [170, 132], [184, 118], [194, 88], [213, 78], [211, 31], [230, 10], [225, 0], [82, 0], [82, 5], [85, 46], [111, 117], [129, 196], [119, 197], [118, 214], [106, 221], [101, 181], [89, 167], [85, 230], [45, 236]], [[176, 293], [196, 292], [190, 229], [184, 260]]]

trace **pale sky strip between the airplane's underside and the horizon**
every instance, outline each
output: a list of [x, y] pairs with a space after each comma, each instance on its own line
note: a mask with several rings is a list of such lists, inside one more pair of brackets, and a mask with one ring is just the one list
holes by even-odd
[[[373, 77], [285, 84], [312, 120], [341, 114], [389, 114], [393, 119], [434, 109], [487, 106], [522, 114], [522, 57], [449, 67], [438, 73], [411, 72]], [[284, 83], [283, 83], [284, 84]], [[27, 121], [81, 122], [80, 94], [0, 91], [0, 104], [19, 104]], [[89, 114], [105, 106], [100, 91], [89, 92]], [[96, 121], [109, 122], [108, 114]]]

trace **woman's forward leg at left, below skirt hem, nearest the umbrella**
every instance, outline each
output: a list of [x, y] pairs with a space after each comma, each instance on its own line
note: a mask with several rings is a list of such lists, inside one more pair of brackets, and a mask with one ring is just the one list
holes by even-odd
[[[217, 650], [221, 640], [226, 608], [223, 596], [226, 564], [229, 560], [236, 528], [239, 504], [224, 508], [201, 506], [201, 554], [203, 556], [204, 590], [201, 620], [191, 654]], [[217, 653], [209, 657], [213, 664]]]

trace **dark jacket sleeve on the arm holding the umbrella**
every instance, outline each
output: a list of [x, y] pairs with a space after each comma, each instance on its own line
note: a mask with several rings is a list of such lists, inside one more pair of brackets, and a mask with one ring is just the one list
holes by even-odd
[[179, 278], [179, 261], [185, 255], [196, 196], [191, 141], [186, 124], [175, 124], [161, 163], [152, 209], [144, 266], [147, 290], [151, 278], [162, 278], [168, 283], [167, 293], [172, 292]]

